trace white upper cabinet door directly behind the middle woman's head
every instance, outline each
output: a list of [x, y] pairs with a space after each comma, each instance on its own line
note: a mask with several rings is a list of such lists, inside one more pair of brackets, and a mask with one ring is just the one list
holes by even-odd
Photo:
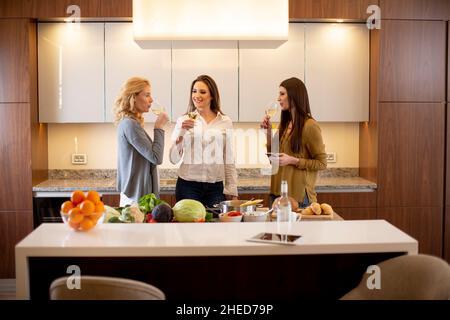
[[192, 81], [201, 74], [211, 76], [219, 88], [221, 109], [238, 120], [237, 41], [172, 43], [172, 119], [186, 113]]

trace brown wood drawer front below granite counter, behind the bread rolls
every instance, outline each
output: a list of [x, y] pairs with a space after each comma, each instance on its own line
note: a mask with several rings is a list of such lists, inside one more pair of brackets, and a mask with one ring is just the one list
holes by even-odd
[[377, 192], [318, 193], [317, 201], [319, 203], [328, 203], [333, 208], [375, 208], [377, 205]]

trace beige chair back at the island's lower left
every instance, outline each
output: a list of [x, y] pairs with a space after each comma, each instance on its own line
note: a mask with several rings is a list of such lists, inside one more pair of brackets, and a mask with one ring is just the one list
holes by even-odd
[[54, 280], [50, 285], [51, 300], [165, 300], [158, 288], [136, 280], [81, 276], [80, 289], [69, 289], [68, 277]]

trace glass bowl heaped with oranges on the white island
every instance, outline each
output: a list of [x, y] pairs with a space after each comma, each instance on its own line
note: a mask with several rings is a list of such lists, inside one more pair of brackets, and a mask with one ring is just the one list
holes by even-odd
[[70, 200], [61, 205], [61, 217], [65, 224], [78, 231], [89, 231], [103, 223], [105, 206], [97, 191], [76, 190]]

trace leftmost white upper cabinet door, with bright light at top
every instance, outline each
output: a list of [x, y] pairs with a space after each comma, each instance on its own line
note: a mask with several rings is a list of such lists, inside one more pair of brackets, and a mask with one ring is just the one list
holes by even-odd
[[104, 121], [104, 24], [39, 23], [40, 122]]

